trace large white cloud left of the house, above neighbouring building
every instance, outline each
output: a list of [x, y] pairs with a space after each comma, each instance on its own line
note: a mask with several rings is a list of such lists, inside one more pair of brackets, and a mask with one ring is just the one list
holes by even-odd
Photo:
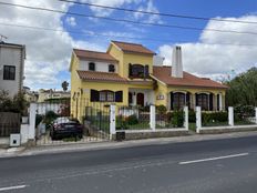
[[[6, 2], [10, 2], [6, 0]], [[43, 7], [68, 11], [68, 3], [60, 1], [44, 0], [12, 0], [18, 4], [31, 7]], [[59, 80], [60, 72], [68, 71], [71, 50], [73, 47], [93, 50], [103, 49], [96, 43], [89, 41], [73, 40], [62, 27], [63, 14], [28, 10], [14, 7], [0, 7], [0, 22], [23, 24], [32, 27], [43, 27], [63, 30], [64, 32], [32, 30], [0, 24], [0, 31], [8, 37], [7, 42], [25, 44], [25, 81], [24, 84], [32, 89], [59, 87], [63, 80]], [[70, 79], [70, 77], [68, 77]]]

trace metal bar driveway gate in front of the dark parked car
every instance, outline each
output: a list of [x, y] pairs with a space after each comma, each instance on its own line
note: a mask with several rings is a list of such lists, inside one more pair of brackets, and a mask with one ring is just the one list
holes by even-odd
[[[37, 104], [37, 145], [110, 140], [109, 105], [89, 105], [88, 102], [84, 102], [84, 105], [72, 104], [70, 99], [49, 100]], [[75, 113], [72, 113], [74, 111]]]

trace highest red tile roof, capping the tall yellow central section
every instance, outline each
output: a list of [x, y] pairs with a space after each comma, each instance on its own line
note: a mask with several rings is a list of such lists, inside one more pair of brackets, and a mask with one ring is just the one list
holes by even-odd
[[150, 49], [145, 48], [142, 44], [121, 42], [121, 41], [112, 41], [112, 42], [124, 52], [155, 54], [153, 51], [151, 51]]

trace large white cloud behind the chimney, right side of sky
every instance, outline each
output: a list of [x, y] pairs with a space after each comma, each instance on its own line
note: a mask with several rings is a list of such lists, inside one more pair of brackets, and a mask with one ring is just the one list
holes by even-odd
[[[257, 16], [240, 18], [223, 18], [230, 20], [257, 21]], [[256, 31], [255, 24], [209, 21], [208, 29]], [[217, 44], [218, 43], [218, 44]], [[255, 47], [237, 47], [222, 44], [255, 44]], [[219, 78], [223, 74], [245, 71], [257, 67], [257, 35], [220, 33], [203, 31], [197, 43], [179, 43], [183, 51], [184, 69], [188, 72], [209, 78]], [[165, 57], [165, 64], [172, 63], [172, 47], [160, 47], [160, 54]]]

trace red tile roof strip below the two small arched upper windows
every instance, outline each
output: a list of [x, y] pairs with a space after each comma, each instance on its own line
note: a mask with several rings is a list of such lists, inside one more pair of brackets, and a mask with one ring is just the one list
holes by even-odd
[[80, 79], [90, 81], [111, 81], [126, 82], [127, 80], [113, 72], [95, 72], [95, 71], [76, 71]]

